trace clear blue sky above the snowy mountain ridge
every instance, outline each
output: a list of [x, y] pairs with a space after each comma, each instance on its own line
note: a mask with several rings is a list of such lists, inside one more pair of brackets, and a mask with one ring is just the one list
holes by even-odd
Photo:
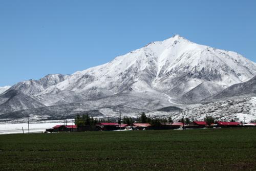
[[256, 1], [0, 1], [0, 86], [72, 74], [174, 34], [256, 62]]

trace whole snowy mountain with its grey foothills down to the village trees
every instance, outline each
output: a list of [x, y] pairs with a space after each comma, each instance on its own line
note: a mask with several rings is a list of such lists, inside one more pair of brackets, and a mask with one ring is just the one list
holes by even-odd
[[[59, 115], [90, 110], [114, 115], [118, 108], [129, 115], [170, 105], [187, 108], [255, 75], [256, 64], [242, 55], [175, 35], [104, 65], [19, 82], [10, 90], [45, 105], [36, 111], [39, 115], [49, 109]], [[60, 110], [63, 106], [66, 111]]]

